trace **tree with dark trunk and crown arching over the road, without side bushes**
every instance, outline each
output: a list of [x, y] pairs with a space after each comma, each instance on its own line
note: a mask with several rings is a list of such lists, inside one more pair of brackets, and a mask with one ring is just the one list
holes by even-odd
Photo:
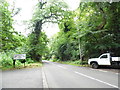
[[31, 46], [34, 46], [34, 48], [32, 48], [30, 51], [32, 59], [36, 61], [41, 61], [40, 57], [42, 56], [41, 54], [37, 53], [39, 50], [37, 48], [39, 45], [41, 45], [39, 38], [42, 34], [42, 25], [46, 22], [57, 23], [58, 20], [60, 20], [61, 17], [66, 14], [65, 8], [65, 3], [56, 0], [51, 0], [49, 2], [39, 2], [37, 4], [35, 13], [33, 14], [33, 18], [31, 20], [31, 28], [33, 28], [33, 41], [31, 41]]

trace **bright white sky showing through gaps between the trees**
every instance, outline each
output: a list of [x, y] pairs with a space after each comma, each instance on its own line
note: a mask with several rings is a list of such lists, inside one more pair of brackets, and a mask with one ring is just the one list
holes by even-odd
[[[15, 24], [13, 27], [16, 31], [21, 32], [21, 34], [27, 36], [30, 33], [30, 30], [27, 28], [27, 25], [23, 23], [23, 21], [28, 21], [32, 18], [33, 9], [38, 0], [7, 0], [10, 5], [13, 5], [13, 1], [15, 2], [15, 8], [21, 8], [19, 14], [13, 17], [15, 20]], [[64, 0], [70, 10], [75, 10], [79, 6], [80, 0]], [[59, 32], [59, 28], [57, 24], [49, 23], [43, 26], [43, 30], [46, 32], [48, 38], [52, 37], [54, 34]]]

